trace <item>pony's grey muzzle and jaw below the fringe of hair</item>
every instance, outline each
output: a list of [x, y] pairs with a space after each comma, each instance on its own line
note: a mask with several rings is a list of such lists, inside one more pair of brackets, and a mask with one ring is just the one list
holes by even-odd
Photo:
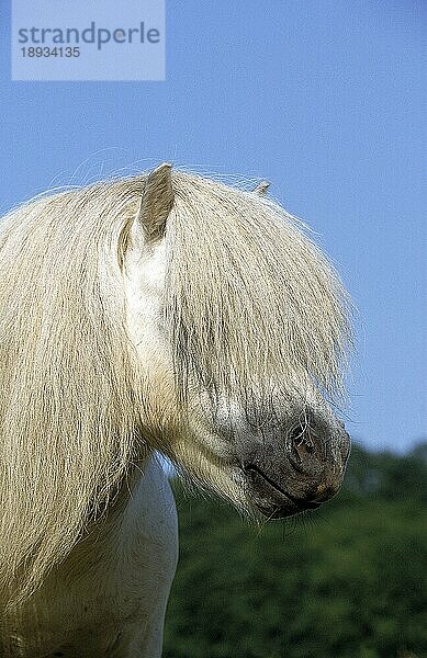
[[194, 407], [183, 412], [164, 452], [187, 478], [240, 511], [280, 519], [316, 509], [339, 490], [350, 442], [327, 407], [289, 411], [280, 427], [271, 418], [262, 428], [213, 418]]

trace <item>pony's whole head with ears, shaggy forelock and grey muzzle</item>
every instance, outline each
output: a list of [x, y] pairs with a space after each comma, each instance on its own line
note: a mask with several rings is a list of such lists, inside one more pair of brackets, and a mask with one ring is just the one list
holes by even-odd
[[302, 224], [263, 195], [164, 164], [123, 270], [142, 433], [201, 485], [270, 518], [338, 490], [349, 438], [346, 294]]

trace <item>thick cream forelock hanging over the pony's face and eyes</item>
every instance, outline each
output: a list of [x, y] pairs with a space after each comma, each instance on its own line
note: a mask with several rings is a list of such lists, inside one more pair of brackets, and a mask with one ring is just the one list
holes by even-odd
[[237, 397], [344, 394], [348, 299], [304, 225], [266, 197], [180, 175], [167, 232], [166, 318], [179, 388]]

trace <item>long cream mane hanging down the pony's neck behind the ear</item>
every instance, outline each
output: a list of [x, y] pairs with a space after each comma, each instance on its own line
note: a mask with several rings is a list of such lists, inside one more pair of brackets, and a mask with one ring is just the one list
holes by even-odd
[[35, 587], [132, 458], [117, 247], [137, 188], [66, 192], [1, 226], [0, 590]]

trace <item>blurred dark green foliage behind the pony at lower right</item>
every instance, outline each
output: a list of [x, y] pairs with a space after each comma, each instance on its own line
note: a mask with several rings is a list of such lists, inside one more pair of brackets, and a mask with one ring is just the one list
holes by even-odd
[[175, 484], [165, 658], [427, 656], [426, 444], [352, 451], [341, 494], [259, 526]]

